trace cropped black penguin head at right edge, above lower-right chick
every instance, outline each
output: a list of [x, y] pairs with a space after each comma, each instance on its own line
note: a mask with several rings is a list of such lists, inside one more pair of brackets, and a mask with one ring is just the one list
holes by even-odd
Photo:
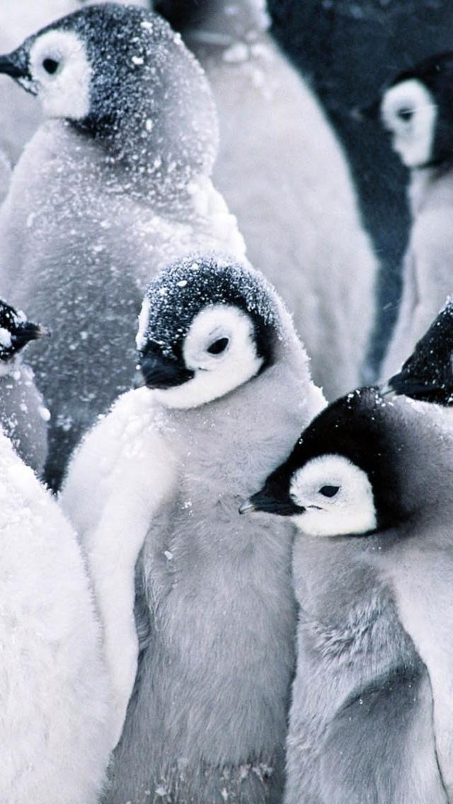
[[447, 301], [402, 370], [389, 379], [382, 391], [446, 407], [453, 405], [453, 301]]

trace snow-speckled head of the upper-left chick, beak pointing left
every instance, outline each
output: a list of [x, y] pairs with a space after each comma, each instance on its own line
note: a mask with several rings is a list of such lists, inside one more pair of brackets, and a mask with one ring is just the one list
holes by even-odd
[[208, 81], [159, 14], [110, 2], [83, 7], [0, 57], [0, 72], [37, 95], [47, 117], [118, 150], [134, 143], [134, 159], [171, 153], [175, 166], [212, 166], [217, 124]]

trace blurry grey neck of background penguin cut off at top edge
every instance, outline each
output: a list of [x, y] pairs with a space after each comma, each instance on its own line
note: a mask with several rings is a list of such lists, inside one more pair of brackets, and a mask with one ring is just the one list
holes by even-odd
[[264, 0], [212, 0], [204, 7], [197, 27], [188, 29], [184, 39], [192, 49], [222, 50], [238, 42], [253, 42], [265, 35], [270, 24]]

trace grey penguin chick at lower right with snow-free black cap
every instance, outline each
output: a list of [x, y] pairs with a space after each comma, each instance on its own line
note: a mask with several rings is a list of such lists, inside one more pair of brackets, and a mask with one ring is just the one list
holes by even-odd
[[241, 506], [302, 531], [286, 804], [452, 800], [453, 443], [431, 413], [352, 392]]

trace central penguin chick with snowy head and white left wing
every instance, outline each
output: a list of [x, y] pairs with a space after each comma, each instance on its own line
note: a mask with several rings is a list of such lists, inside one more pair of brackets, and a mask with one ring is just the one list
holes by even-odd
[[239, 519], [238, 490], [266, 477], [323, 396], [274, 290], [227, 257], [156, 277], [138, 351], [147, 387], [85, 437], [62, 492], [104, 626], [118, 736], [135, 679], [105, 802], [276, 804], [292, 527]]

